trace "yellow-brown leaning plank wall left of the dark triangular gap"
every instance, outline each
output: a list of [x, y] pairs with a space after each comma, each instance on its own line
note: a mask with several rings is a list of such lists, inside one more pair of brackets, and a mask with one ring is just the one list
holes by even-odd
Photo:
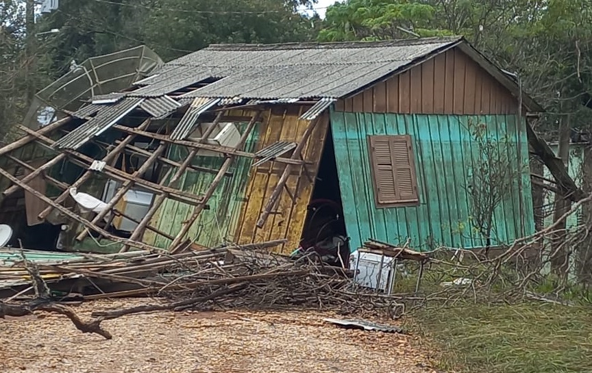
[[[271, 112], [269, 120], [261, 129], [260, 141], [256, 150], [269, 146], [277, 141], [299, 142], [310, 124], [308, 120], [299, 120], [298, 117], [302, 111], [282, 110], [281, 112]], [[251, 168], [247, 187], [247, 201], [239, 216], [239, 223], [236, 228], [235, 238], [238, 243], [257, 242], [262, 240], [279, 240], [286, 238], [288, 242], [280, 248], [282, 253], [291, 253], [298, 247], [304, 220], [306, 219], [306, 205], [310, 201], [312, 188], [314, 187], [314, 178], [317, 176], [319, 161], [325, 144], [325, 136], [329, 125], [329, 115], [324, 114], [321, 122], [317, 124], [312, 131], [310, 139], [306, 144], [302, 155], [306, 162], [306, 167], [310, 179], [306, 176], [304, 170], [295, 167], [292, 175], [286, 182], [286, 187], [291, 194], [296, 197], [292, 201], [291, 197], [284, 190], [277, 203], [277, 210], [267, 218], [261, 229], [256, 227], [256, 222], [261, 214], [262, 207], [267, 203], [271, 193], [275, 189], [277, 181], [284, 172], [285, 165], [275, 162], [268, 162], [254, 170]]]

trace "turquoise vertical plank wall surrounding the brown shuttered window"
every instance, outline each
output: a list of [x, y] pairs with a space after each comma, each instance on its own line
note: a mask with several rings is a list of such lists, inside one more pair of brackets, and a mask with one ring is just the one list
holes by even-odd
[[[517, 138], [517, 117], [513, 115], [446, 116], [421, 114], [371, 114], [332, 112], [335, 157], [344, 207], [347, 234], [355, 250], [369, 237], [393, 244], [431, 250], [440, 245], [478, 248], [484, 241], [473, 233], [469, 217], [471, 201], [467, 183], [473, 168], [471, 153], [477, 151], [468, 131], [469, 121], [487, 126], [489, 136], [508, 137], [508, 154], [513, 162], [528, 165], [528, 151], [517, 155], [517, 141], [527, 143], [526, 124]], [[376, 208], [369, 169], [367, 136], [404, 135], [412, 138], [417, 166], [419, 206]], [[501, 142], [500, 142], [501, 144]], [[500, 145], [502, 146], [502, 145]], [[526, 148], [526, 146], [522, 146]], [[518, 166], [516, 166], [518, 168]], [[510, 243], [523, 233], [534, 233], [528, 167], [522, 168], [523, 206], [515, 192], [508, 194], [495, 211], [497, 243]], [[494, 240], [495, 241], [495, 240]]]

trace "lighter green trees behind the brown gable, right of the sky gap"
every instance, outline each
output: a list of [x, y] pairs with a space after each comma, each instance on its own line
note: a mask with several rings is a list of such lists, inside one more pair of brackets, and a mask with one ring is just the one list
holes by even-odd
[[463, 35], [519, 73], [550, 111], [589, 127], [592, 6], [589, 0], [348, 0], [327, 10], [319, 41]]

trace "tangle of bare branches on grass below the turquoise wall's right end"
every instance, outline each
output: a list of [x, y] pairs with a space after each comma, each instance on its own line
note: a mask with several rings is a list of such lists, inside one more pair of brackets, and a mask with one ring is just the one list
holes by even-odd
[[580, 209], [592, 208], [592, 194], [573, 204], [554, 223], [509, 245], [493, 250], [441, 247], [430, 253], [420, 301], [446, 307], [460, 302], [520, 303], [538, 301], [573, 305], [592, 299], [592, 221], [576, 226], [562, 222]]

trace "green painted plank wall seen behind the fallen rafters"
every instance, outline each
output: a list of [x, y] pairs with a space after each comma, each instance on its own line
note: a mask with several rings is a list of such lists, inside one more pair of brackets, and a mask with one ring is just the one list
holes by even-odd
[[[244, 131], [246, 125], [240, 125], [240, 131]], [[260, 132], [260, 123], [251, 131], [245, 151], [253, 151]], [[180, 153], [185, 152], [185, 154]], [[184, 159], [186, 149], [172, 147], [169, 158], [174, 160]], [[224, 157], [195, 157], [192, 164], [219, 170], [222, 166]], [[224, 242], [234, 240], [234, 231], [240, 215], [240, 208], [245, 201], [245, 190], [249, 181], [249, 170], [251, 168], [251, 159], [246, 157], [237, 157], [234, 160], [229, 172], [232, 176], [223, 178], [216, 191], [208, 201], [210, 209], [201, 212], [198, 220], [191, 227], [188, 237], [204, 246], [215, 246]], [[174, 172], [173, 172], [174, 173]], [[185, 172], [181, 179], [180, 188], [185, 192], [195, 195], [204, 194], [210, 187], [216, 175], [209, 172]], [[158, 212], [152, 219], [153, 227], [160, 231], [175, 236], [182, 227], [182, 222], [187, 220], [193, 213], [193, 206], [186, 203], [180, 203], [167, 199], [164, 201]], [[162, 235], [146, 231], [145, 242], [161, 248], [168, 248], [171, 240]]]

